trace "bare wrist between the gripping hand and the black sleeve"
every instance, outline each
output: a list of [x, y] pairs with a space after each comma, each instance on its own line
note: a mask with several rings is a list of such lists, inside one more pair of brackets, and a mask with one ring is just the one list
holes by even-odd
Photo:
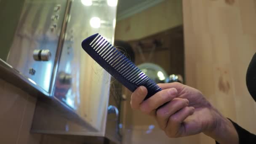
[[238, 144], [238, 134], [232, 122], [221, 115], [217, 109], [212, 108], [212, 112], [215, 120], [209, 131], [204, 132], [204, 134], [215, 139], [220, 144]]

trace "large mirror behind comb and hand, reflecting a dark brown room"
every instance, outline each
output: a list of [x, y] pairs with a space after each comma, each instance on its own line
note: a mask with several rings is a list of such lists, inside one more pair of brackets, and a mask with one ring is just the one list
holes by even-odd
[[[119, 0], [115, 40], [131, 46], [134, 54], [130, 57], [156, 83], [184, 82], [181, 0]], [[120, 97], [126, 99], [120, 112], [123, 143], [145, 143], [145, 139], [171, 142], [164, 134], [159, 135], [161, 130], [152, 117], [131, 110], [131, 92], [124, 87], [120, 91]], [[154, 136], [147, 136], [150, 134]]]

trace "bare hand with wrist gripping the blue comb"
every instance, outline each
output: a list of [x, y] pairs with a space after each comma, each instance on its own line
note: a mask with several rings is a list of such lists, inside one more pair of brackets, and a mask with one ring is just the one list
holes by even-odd
[[225, 131], [231, 130], [232, 136], [235, 134], [232, 123], [197, 89], [181, 83], [158, 85], [163, 90], [145, 101], [143, 100], [147, 95], [147, 88], [141, 86], [136, 89], [131, 96], [131, 107], [155, 117], [167, 136], [182, 137], [203, 132], [223, 141], [219, 139], [219, 131], [223, 131], [223, 128]]

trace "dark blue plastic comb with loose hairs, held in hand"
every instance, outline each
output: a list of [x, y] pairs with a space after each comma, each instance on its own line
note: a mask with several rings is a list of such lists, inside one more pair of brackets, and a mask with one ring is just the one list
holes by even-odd
[[101, 67], [130, 91], [135, 91], [141, 85], [145, 86], [148, 91], [145, 100], [162, 90], [101, 35], [95, 34], [86, 38], [82, 42], [82, 47]]

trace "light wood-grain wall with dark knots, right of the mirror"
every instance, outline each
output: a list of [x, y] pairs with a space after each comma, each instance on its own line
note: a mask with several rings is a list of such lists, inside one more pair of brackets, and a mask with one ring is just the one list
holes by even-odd
[[[256, 52], [256, 0], [183, 0], [183, 14], [187, 84], [256, 133], [256, 102], [245, 85]], [[206, 142], [214, 144], [200, 135]]]

